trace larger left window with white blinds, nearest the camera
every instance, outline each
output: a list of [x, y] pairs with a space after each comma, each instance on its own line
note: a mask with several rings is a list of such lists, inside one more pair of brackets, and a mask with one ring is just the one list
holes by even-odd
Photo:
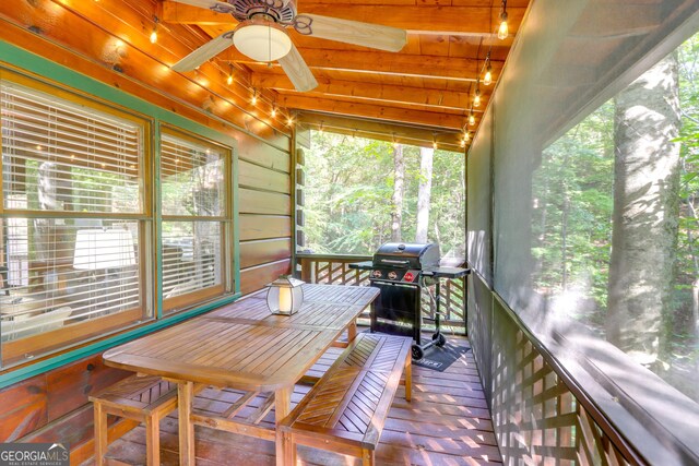
[[0, 109], [7, 367], [145, 316], [147, 122], [7, 80]]

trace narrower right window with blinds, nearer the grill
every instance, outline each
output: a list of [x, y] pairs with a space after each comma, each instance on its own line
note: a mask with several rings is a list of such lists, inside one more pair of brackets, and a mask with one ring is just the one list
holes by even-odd
[[164, 131], [161, 141], [163, 307], [225, 291], [229, 150]]

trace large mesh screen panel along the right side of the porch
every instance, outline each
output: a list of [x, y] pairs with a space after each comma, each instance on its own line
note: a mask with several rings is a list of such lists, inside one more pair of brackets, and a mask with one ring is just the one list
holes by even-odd
[[[491, 144], [493, 288], [526, 328], [521, 342], [512, 339], [517, 332], [499, 315], [506, 311], [494, 310], [493, 403], [502, 410], [506, 458], [537, 462], [550, 445], [576, 462], [578, 445], [547, 443], [546, 429], [561, 418], [521, 405], [521, 397], [558, 391], [545, 365], [536, 362], [543, 379], [533, 387], [528, 379], [538, 374], [518, 369], [531, 362], [526, 353], [536, 358], [526, 346], [531, 332], [641, 456], [699, 461], [699, 432], [687, 421], [699, 417], [690, 290], [699, 283], [691, 265], [698, 32], [699, 3], [690, 0], [531, 4], [490, 101], [493, 132], [482, 128], [469, 154], [469, 234], [476, 242], [469, 259], [484, 275], [477, 251], [487, 240], [474, 232], [489, 192], [477, 174]], [[481, 342], [475, 327], [487, 327], [486, 316], [473, 326]], [[487, 346], [474, 353], [485, 355]], [[604, 445], [576, 409], [560, 417], [584, 430], [588, 449]], [[520, 414], [531, 426], [512, 422]], [[580, 432], [561, 434], [570, 433]]]

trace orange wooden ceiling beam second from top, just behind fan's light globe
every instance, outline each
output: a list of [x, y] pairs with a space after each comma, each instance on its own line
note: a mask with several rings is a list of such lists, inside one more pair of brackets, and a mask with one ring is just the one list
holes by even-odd
[[[420, 55], [391, 53], [384, 51], [343, 51], [331, 49], [299, 49], [306, 63], [325, 70], [364, 71], [396, 74], [402, 76], [440, 77], [475, 82], [483, 67], [483, 60], [469, 58], [435, 57]], [[238, 63], [257, 63], [235, 48], [223, 57]], [[279, 64], [274, 63], [274, 67]], [[500, 74], [502, 62], [493, 61], [493, 80]]]

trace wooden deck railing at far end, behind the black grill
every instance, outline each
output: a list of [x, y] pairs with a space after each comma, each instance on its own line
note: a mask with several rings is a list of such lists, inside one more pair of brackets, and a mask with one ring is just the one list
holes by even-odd
[[[306, 283], [369, 285], [369, 272], [350, 268], [350, 264], [370, 261], [370, 255], [297, 253], [296, 260], [300, 277]], [[436, 306], [431, 296], [434, 296], [434, 286], [430, 286], [427, 292], [422, 294], [423, 318], [435, 318]], [[453, 327], [458, 333], [465, 333], [465, 278], [443, 279], [439, 292], [439, 311], [445, 315], [442, 322]]]

